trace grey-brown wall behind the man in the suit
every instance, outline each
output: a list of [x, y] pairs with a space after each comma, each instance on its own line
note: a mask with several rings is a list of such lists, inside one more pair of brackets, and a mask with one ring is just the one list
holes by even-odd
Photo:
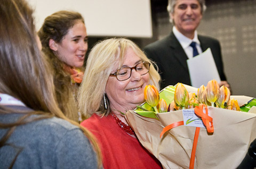
[[[233, 95], [256, 97], [256, 0], [207, 2], [198, 33], [220, 40]], [[155, 13], [153, 18], [154, 38], [142, 40], [141, 47], [170, 33], [166, 11]]]

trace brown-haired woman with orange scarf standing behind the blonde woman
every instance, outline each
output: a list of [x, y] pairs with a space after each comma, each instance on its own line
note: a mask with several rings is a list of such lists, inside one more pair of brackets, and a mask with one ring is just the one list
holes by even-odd
[[55, 12], [45, 18], [38, 35], [54, 74], [59, 107], [69, 119], [81, 122], [76, 94], [83, 79], [88, 48], [84, 19], [78, 12]]

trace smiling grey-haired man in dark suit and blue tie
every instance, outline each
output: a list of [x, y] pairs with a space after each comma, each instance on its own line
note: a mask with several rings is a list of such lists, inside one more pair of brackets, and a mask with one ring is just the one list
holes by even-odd
[[[191, 85], [186, 60], [195, 55], [193, 52], [200, 54], [209, 47], [220, 75], [219, 85], [230, 88], [223, 72], [219, 41], [197, 35], [196, 28], [205, 9], [204, 0], [169, 0], [167, 10], [170, 14], [170, 21], [174, 24], [172, 32], [164, 39], [145, 47], [146, 55], [159, 67], [162, 77], [161, 88], [175, 85], [177, 82]], [[196, 48], [190, 46], [192, 42]]]

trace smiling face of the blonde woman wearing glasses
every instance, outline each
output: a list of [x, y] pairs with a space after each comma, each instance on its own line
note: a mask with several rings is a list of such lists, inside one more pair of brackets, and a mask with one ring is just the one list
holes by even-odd
[[[133, 49], [131, 47], [127, 48], [122, 67], [133, 67], [140, 62], [142, 62], [141, 58], [133, 52]], [[116, 63], [111, 73], [115, 73], [117, 69], [118, 63]], [[140, 75], [135, 69], [132, 70], [131, 77], [124, 81], [118, 81], [116, 77], [109, 77], [106, 94], [110, 108], [117, 111], [127, 111], [145, 102], [144, 88], [148, 84], [149, 73]]]

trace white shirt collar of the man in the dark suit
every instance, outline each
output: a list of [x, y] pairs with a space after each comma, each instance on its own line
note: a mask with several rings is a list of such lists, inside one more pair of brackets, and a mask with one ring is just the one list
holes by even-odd
[[187, 48], [192, 41], [195, 41], [195, 43], [200, 45], [200, 41], [198, 40], [198, 36], [197, 36], [197, 31], [195, 31], [195, 36], [194, 36], [194, 39], [192, 40], [184, 36], [181, 32], [179, 32], [175, 26], [172, 27], [172, 32], [174, 33], [175, 37], [178, 39], [183, 49]]

